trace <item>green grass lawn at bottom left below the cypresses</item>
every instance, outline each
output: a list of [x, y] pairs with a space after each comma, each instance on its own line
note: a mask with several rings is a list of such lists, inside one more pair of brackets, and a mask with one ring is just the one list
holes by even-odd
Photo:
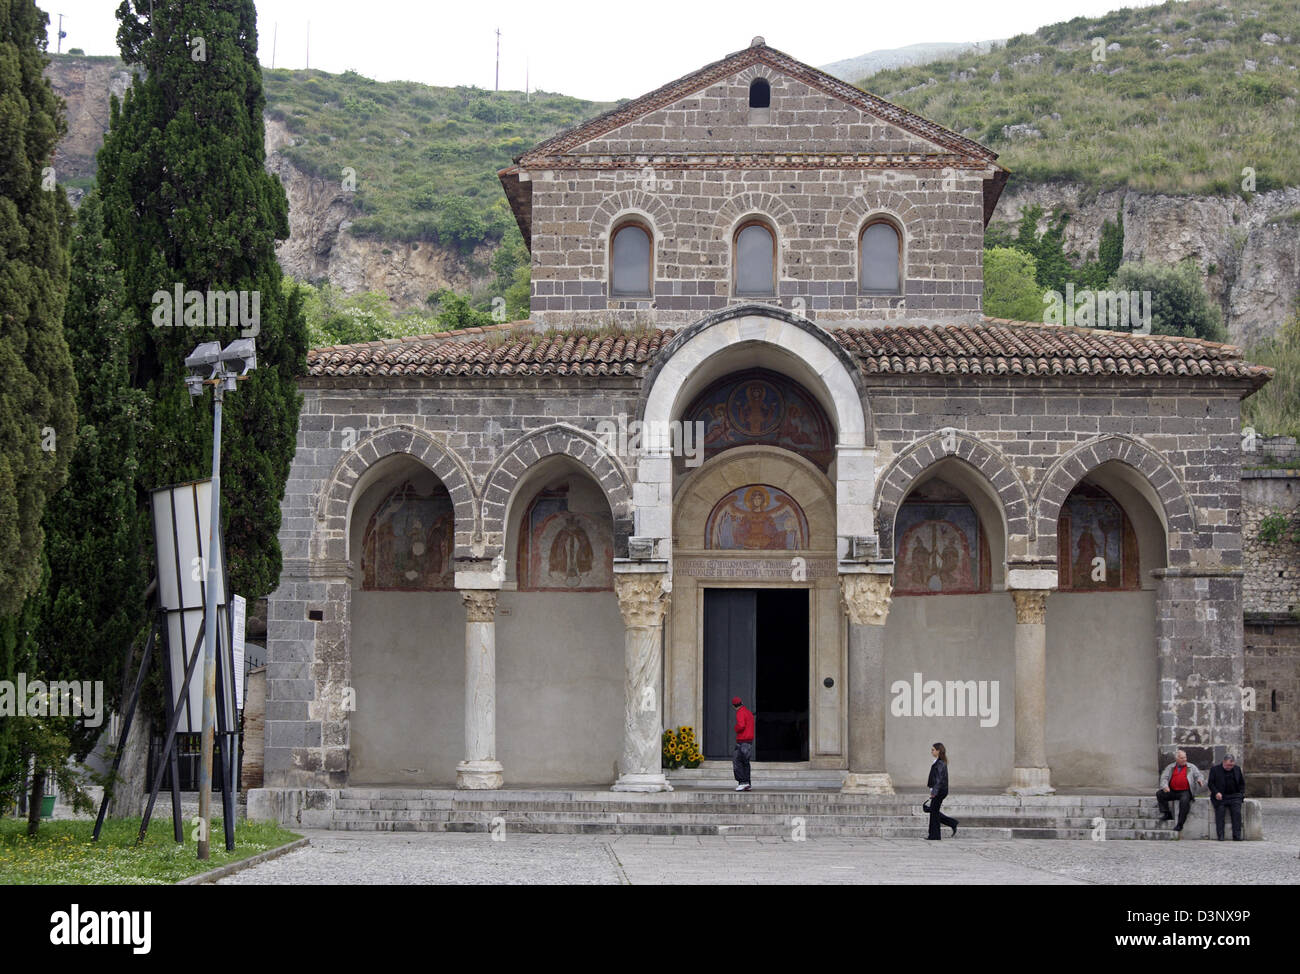
[[170, 819], [150, 822], [143, 845], [135, 844], [138, 818], [105, 819], [98, 843], [91, 841], [94, 828], [91, 819], [43, 821], [40, 835], [27, 839], [26, 819], [0, 819], [0, 884], [169, 884], [300, 837], [273, 822], [239, 822], [235, 849], [226, 852], [221, 819], [214, 818], [212, 858], [199, 862], [188, 824], [182, 845], [172, 840]]

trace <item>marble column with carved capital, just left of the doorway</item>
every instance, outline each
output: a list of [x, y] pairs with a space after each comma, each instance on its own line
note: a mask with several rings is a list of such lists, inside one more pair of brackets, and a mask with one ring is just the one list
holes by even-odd
[[663, 775], [663, 615], [668, 607], [662, 572], [616, 572], [614, 588], [627, 627], [627, 711], [616, 792], [671, 792]]

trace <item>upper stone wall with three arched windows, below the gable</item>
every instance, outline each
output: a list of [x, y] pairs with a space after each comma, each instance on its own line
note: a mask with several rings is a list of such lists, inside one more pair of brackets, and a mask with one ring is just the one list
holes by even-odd
[[[551, 177], [551, 178], [546, 178]], [[983, 190], [935, 170], [708, 169], [537, 173], [533, 320], [547, 326], [632, 321], [684, 325], [749, 299], [732, 296], [737, 224], [766, 217], [777, 237], [777, 299], [819, 324], [978, 317]], [[654, 230], [654, 298], [608, 296], [608, 238], [623, 216]], [[887, 215], [904, 234], [905, 294], [858, 293], [858, 231]]]

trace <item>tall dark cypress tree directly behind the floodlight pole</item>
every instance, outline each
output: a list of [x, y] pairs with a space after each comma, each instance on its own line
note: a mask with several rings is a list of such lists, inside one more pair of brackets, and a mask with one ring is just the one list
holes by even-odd
[[[152, 13], [151, 13], [152, 8]], [[292, 460], [307, 334], [296, 290], [281, 287], [276, 241], [289, 235], [281, 183], [264, 168], [261, 68], [252, 0], [124, 0], [118, 46], [144, 69], [99, 153], [104, 235], [124, 280], [133, 385], [150, 402], [139, 492], [209, 475], [211, 397], [190, 402], [185, 356], [251, 336], [257, 369], [226, 398], [222, 514], [231, 585], [251, 599], [278, 584], [280, 499]], [[153, 324], [155, 293], [237, 291], [256, 322], [174, 308]], [[211, 309], [211, 300], [208, 303]], [[196, 319], [196, 320], [195, 320]], [[161, 319], [165, 321], [165, 316]]]

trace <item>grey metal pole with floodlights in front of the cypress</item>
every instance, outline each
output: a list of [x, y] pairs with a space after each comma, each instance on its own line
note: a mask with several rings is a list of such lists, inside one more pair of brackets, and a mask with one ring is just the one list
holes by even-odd
[[[203, 566], [208, 585], [203, 606], [203, 737], [199, 757], [199, 858], [209, 858], [208, 835], [212, 824], [212, 733], [217, 722], [217, 586], [212, 571], [213, 545], [221, 536], [221, 402], [226, 390], [257, 368], [252, 338], [239, 338], [221, 349], [221, 342], [204, 342], [188, 356], [185, 385], [190, 395], [203, 395], [203, 386], [212, 386], [212, 518], [208, 523], [207, 563]], [[229, 787], [229, 785], [228, 785]]]

